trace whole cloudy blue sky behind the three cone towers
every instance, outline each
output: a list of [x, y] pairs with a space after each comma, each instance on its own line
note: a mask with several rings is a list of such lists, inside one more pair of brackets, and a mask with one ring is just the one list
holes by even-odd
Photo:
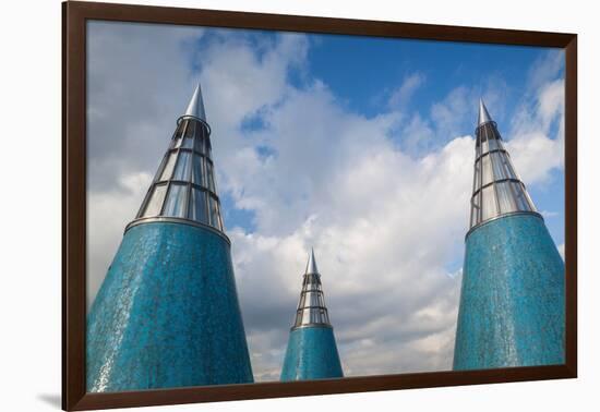
[[202, 82], [256, 380], [314, 246], [347, 376], [452, 367], [482, 96], [564, 243], [564, 56], [88, 23], [88, 301]]

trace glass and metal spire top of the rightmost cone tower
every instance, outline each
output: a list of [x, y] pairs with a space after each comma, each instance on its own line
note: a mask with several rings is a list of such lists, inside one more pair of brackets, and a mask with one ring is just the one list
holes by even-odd
[[536, 206], [502, 144], [496, 123], [480, 99], [470, 230], [491, 219], [515, 213], [537, 215]]

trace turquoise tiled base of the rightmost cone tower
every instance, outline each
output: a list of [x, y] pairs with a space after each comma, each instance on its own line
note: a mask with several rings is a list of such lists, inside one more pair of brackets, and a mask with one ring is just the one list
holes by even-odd
[[455, 369], [564, 363], [564, 263], [535, 215], [513, 215], [467, 238]]

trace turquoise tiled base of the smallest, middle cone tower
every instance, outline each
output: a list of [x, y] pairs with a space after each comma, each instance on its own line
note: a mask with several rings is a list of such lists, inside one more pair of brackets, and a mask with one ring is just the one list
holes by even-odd
[[281, 380], [343, 376], [333, 328], [310, 326], [290, 331]]

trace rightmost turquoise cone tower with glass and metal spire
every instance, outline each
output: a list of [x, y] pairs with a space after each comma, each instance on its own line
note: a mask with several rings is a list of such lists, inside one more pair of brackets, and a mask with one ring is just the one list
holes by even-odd
[[479, 104], [454, 369], [564, 363], [564, 263]]

